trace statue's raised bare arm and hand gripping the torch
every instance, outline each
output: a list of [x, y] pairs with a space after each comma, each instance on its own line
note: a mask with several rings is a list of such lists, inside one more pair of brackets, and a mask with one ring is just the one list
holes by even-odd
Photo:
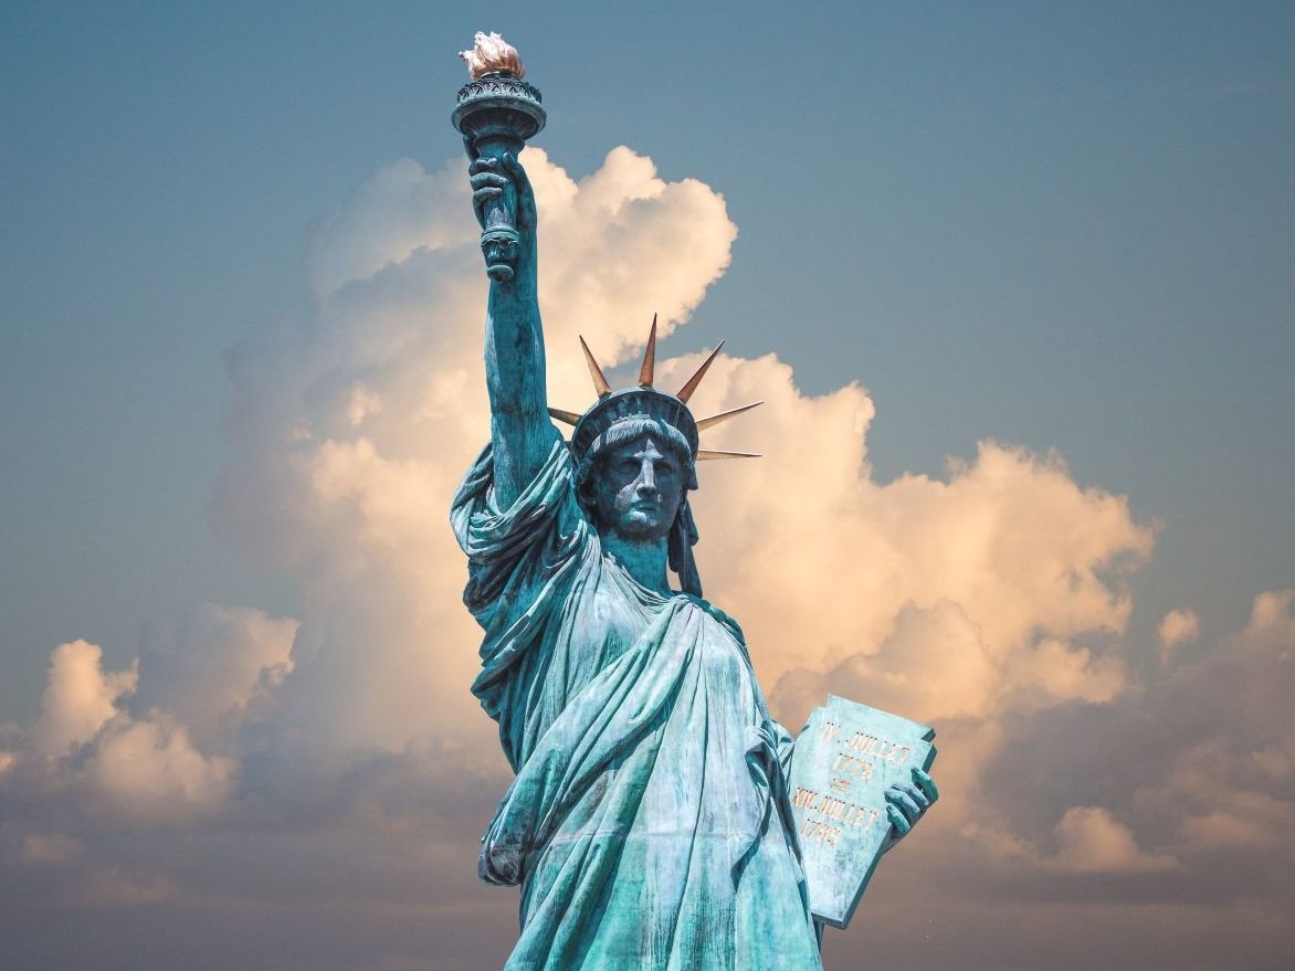
[[[483, 229], [502, 199], [515, 212], [515, 238], [483, 241], [487, 265], [506, 259], [512, 274], [491, 273], [486, 311], [486, 386], [490, 391], [495, 496], [509, 506], [543, 467], [559, 438], [549, 421], [545, 390], [544, 329], [536, 289], [535, 194], [526, 170], [512, 153], [475, 158], [469, 166], [473, 208]], [[493, 203], [493, 206], [492, 206]], [[509, 249], [508, 254], [491, 247]]]

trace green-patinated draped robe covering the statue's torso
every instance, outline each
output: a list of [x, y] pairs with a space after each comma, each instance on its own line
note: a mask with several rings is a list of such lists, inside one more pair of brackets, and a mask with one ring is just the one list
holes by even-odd
[[505, 971], [816, 971], [780, 756], [737, 624], [602, 552], [567, 447], [509, 509], [491, 448], [455, 496], [473, 693], [514, 772], [479, 870], [521, 884]]

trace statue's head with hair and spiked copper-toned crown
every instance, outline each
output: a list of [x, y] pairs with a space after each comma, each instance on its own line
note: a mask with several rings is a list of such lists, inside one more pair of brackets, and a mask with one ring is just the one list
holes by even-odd
[[[745, 405], [697, 421], [688, 399], [701, 383], [719, 347], [679, 391], [653, 387], [657, 321], [653, 320], [638, 386], [613, 391], [602, 369], [580, 339], [598, 400], [584, 414], [550, 408], [558, 421], [575, 425], [571, 454], [576, 461], [576, 495], [601, 533], [635, 541], [664, 541], [670, 567], [685, 593], [701, 596], [702, 581], [693, 561], [697, 526], [688, 504], [695, 489], [697, 462], [703, 458], [754, 457], [747, 452], [714, 452], [698, 447], [702, 429], [754, 408]], [[759, 404], [759, 403], [756, 403]]]

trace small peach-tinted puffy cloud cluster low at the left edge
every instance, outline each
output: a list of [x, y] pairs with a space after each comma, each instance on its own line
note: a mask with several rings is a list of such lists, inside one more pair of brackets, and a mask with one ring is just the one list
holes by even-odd
[[[98, 645], [60, 645], [40, 715], [10, 738], [0, 778], [47, 810], [97, 825], [184, 826], [210, 816], [233, 796], [238, 761], [202, 751], [177, 715], [212, 746], [232, 748], [237, 726], [228, 720], [277, 680], [294, 628], [258, 611], [205, 606], [177, 641], [163, 649], [146, 640], [144, 663], [120, 672], [104, 671]], [[73, 844], [66, 834], [28, 832], [21, 856], [48, 862]]]

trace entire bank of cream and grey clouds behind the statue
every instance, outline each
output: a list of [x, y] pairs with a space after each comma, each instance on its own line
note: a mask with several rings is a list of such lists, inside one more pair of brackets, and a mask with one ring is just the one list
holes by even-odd
[[[540, 149], [526, 163], [550, 400], [580, 408], [576, 334], [624, 363], [655, 312], [668, 351], [737, 229], [714, 189], [664, 181], [625, 148], [581, 180]], [[214, 518], [295, 577], [303, 615], [206, 605], [150, 631], [120, 672], [93, 643], [61, 645], [39, 716], [0, 730], [10, 940], [38, 963], [506, 954], [515, 900], [477, 882], [475, 840], [508, 773], [467, 691], [479, 637], [445, 522], [488, 429], [462, 168], [376, 172], [313, 228], [308, 307], [228, 352], [233, 457]], [[662, 360], [659, 383], [698, 363]], [[881, 482], [864, 387], [805, 395], [776, 353], [720, 356], [694, 405], [759, 399], [708, 432], [765, 457], [702, 470], [707, 596], [741, 620], [793, 728], [833, 691], [940, 733], [947, 795], [883, 867], [865, 930], [829, 935], [829, 967], [852, 967], [861, 935], [878, 963], [923, 949], [1024, 967], [1063, 941], [1058, 967], [1142, 967], [1092, 933], [1137, 937], [1138, 918], [1146, 933], [1194, 922], [1177, 966], [1217, 966], [1202, 943], [1244, 933], [1251, 966], [1276, 967], [1263, 962], [1289, 932], [1264, 914], [1292, 902], [1279, 876], [1295, 862], [1291, 594], [1261, 596], [1244, 631], [1147, 682], [1129, 663], [1127, 580], [1155, 537], [1124, 497], [992, 440], [944, 476]], [[1167, 619], [1160, 650], [1194, 636], [1194, 614]], [[1278, 904], [1247, 909], [1255, 887]], [[148, 931], [181, 918], [183, 935]]]

